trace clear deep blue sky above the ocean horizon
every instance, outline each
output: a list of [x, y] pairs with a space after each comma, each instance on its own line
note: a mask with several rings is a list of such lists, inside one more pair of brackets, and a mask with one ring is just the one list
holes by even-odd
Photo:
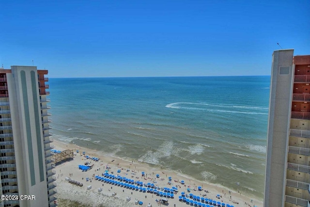
[[48, 77], [270, 75], [310, 54], [309, 0], [0, 1], [1, 65]]

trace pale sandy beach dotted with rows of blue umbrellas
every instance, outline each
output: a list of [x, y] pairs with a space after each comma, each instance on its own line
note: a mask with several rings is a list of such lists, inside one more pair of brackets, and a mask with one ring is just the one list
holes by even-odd
[[[96, 175], [103, 177], [103, 174], [108, 171], [109, 175], [120, 175], [134, 181], [143, 182], [144, 184], [152, 183], [155, 187], [162, 188], [158, 190], [162, 192], [164, 192], [163, 188], [165, 187], [177, 188], [177, 192], [174, 192], [174, 198], [168, 197], [168, 206], [170, 207], [194, 206], [194, 203], [191, 204], [182, 202], [179, 199], [182, 192], [185, 192], [184, 195], [186, 196], [186, 199], [193, 200], [193, 202], [197, 201], [197, 199], [190, 198], [189, 194], [193, 194], [201, 198], [203, 197], [204, 199], [212, 199], [234, 207], [263, 206], [262, 201], [257, 198], [253, 198], [253, 196], [244, 195], [243, 192], [236, 192], [223, 187], [208, 184], [207, 182], [189, 179], [182, 176], [178, 172], [171, 172], [166, 169], [150, 167], [148, 164], [141, 163], [136, 160], [126, 161], [119, 158], [103, 156], [102, 152], [82, 148], [74, 144], [61, 143], [55, 140], [53, 144], [54, 149], [56, 150], [62, 151], [65, 149], [71, 149], [75, 154], [73, 160], [59, 164], [55, 168], [58, 198], [78, 201], [93, 207], [100, 204], [108, 207], [147, 207], [148, 205], [152, 205], [153, 207], [160, 205], [164, 206], [158, 201], [163, 198], [165, 199], [166, 197], [159, 196], [154, 192], [132, 190], [130, 188], [124, 188], [120, 185], [96, 180]], [[77, 153], [77, 150], [79, 150], [79, 153]], [[82, 155], [82, 152], [85, 152], [85, 155]], [[99, 161], [86, 159], [85, 156], [99, 158]], [[86, 172], [82, 172], [82, 170], [78, 169], [78, 165], [84, 165], [85, 162], [89, 162], [93, 165], [93, 167]], [[145, 175], [142, 176], [141, 172], [144, 172]], [[159, 175], [159, 177], [156, 177], [156, 175]], [[79, 187], [65, 181], [66, 177], [83, 183], [83, 186]], [[171, 182], [169, 182], [169, 177], [171, 177]], [[89, 180], [86, 181], [86, 178], [89, 178]], [[182, 180], [184, 181], [184, 184], [181, 184]], [[92, 188], [88, 190], [88, 186], [92, 186]], [[201, 187], [201, 189], [198, 187]], [[98, 192], [99, 188], [101, 188], [102, 191]], [[147, 186], [143, 186], [143, 188], [147, 188]], [[126, 201], [128, 200], [128, 197], [130, 200]], [[143, 204], [136, 205], [135, 201], [137, 200], [139, 202], [143, 202]], [[197, 203], [207, 205], [207, 203], [202, 200], [203, 199], [198, 200]]]

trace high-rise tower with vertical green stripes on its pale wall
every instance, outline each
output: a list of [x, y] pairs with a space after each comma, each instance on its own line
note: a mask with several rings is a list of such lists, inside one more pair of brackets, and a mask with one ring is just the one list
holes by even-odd
[[0, 207], [57, 206], [45, 75], [34, 66], [0, 68]]

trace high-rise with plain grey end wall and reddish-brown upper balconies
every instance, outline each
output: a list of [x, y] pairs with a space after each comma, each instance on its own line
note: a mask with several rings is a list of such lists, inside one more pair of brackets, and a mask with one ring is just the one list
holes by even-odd
[[272, 57], [264, 207], [310, 207], [310, 55]]

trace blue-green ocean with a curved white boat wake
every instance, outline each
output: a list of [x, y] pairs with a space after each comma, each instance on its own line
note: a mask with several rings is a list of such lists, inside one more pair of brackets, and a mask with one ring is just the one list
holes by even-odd
[[270, 76], [48, 84], [54, 139], [263, 199]]

